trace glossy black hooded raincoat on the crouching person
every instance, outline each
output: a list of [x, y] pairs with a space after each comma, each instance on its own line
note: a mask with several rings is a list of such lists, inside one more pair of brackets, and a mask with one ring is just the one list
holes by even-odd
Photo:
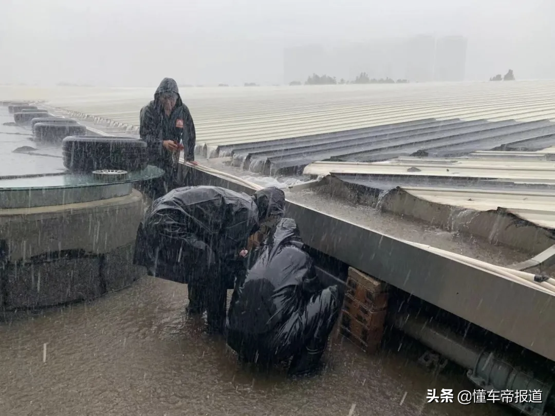
[[321, 288], [295, 220], [280, 220], [252, 262], [236, 283], [228, 329], [257, 336], [277, 331], [281, 341], [286, 333], [302, 332], [308, 300]]

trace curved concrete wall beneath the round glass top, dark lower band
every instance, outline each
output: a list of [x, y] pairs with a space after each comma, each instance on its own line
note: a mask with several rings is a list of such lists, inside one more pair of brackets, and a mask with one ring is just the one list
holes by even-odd
[[[92, 300], [137, 280], [140, 192], [81, 204], [0, 210], [0, 319]], [[7, 314], [6, 314], [7, 313]]]

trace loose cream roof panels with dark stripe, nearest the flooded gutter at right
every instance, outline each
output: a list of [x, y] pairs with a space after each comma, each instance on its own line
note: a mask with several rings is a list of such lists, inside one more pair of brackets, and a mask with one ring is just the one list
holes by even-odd
[[317, 162], [305, 174], [331, 174], [374, 190], [400, 187], [418, 199], [475, 211], [506, 209], [555, 229], [555, 161], [483, 156], [398, 158], [378, 163]]

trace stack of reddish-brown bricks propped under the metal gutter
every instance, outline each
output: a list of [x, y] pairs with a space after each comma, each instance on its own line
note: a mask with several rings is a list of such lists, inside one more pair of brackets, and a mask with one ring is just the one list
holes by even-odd
[[379, 348], [387, 309], [386, 283], [349, 267], [339, 334], [368, 353]]

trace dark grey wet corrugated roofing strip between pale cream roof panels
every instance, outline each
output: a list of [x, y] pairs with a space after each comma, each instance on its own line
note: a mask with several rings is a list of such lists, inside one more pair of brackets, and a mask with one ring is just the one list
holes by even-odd
[[221, 146], [234, 164], [277, 172], [318, 160], [378, 161], [401, 155], [463, 155], [488, 149], [542, 149], [555, 143], [549, 120], [417, 120], [259, 143]]

